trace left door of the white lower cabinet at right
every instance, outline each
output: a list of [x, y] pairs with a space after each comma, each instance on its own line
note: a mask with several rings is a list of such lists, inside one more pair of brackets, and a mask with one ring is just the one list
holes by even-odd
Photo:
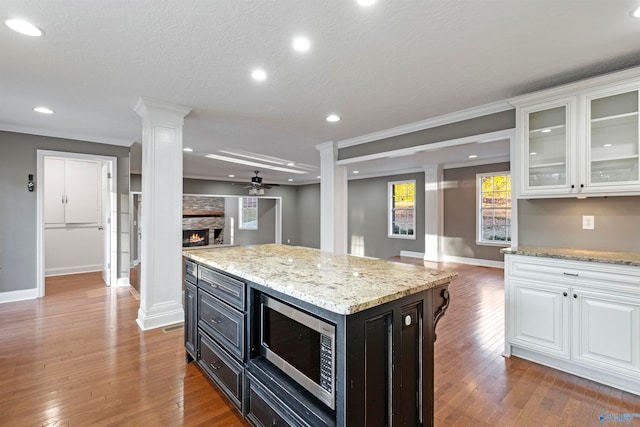
[[511, 280], [512, 343], [569, 358], [569, 288]]

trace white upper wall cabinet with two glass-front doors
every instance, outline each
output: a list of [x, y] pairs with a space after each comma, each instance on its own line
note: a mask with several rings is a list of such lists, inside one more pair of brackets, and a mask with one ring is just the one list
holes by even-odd
[[519, 98], [518, 196], [640, 194], [640, 78]]

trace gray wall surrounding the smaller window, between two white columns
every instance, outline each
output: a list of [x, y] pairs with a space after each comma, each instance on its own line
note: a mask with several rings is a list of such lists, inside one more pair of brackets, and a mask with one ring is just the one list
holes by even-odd
[[[390, 181], [416, 180], [416, 239], [396, 239], [387, 236], [387, 192]], [[364, 247], [363, 255], [390, 258], [400, 251], [424, 252], [424, 173], [384, 176], [349, 181], [348, 251]]]

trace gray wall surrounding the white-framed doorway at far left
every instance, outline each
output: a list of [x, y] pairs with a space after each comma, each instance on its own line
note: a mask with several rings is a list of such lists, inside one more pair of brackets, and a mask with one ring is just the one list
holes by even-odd
[[[118, 253], [128, 254], [129, 148], [0, 131], [0, 292], [34, 289], [36, 278], [37, 199], [27, 191], [27, 175], [37, 179], [37, 150], [114, 156], [118, 159]], [[125, 203], [123, 203], [123, 201]], [[125, 223], [126, 222], [126, 223]], [[127, 246], [123, 248], [124, 245]], [[128, 261], [118, 257], [118, 277], [127, 277]], [[123, 265], [120, 265], [120, 264]]]

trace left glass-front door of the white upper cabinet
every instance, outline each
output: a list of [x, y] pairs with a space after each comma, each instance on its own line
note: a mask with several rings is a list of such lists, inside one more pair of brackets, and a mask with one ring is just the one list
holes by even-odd
[[521, 194], [576, 191], [574, 105], [569, 98], [520, 110]]

